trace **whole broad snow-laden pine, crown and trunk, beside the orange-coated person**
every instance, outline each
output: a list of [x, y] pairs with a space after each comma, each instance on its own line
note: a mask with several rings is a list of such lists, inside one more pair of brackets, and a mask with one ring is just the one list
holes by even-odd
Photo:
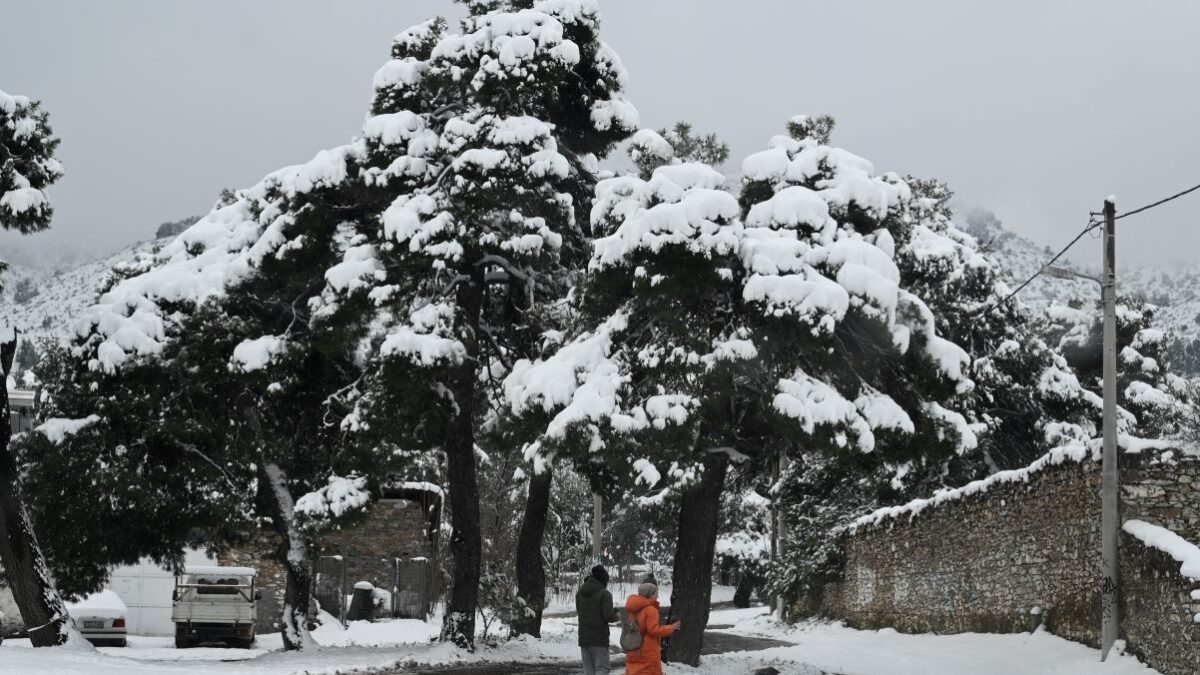
[[[702, 165], [601, 183], [593, 227], [607, 235], [580, 294], [590, 328], [506, 381], [516, 413], [548, 418], [539, 448], [680, 492], [672, 607], [694, 625], [708, 615], [731, 456], [766, 471], [785, 449], [908, 458], [976, 444], [954, 410], [973, 386], [968, 357], [900, 282], [911, 190], [828, 147], [828, 127], [797, 118], [746, 159], [742, 208]], [[668, 159], [654, 136], [640, 132], [638, 151]], [[685, 631], [671, 658], [697, 663], [701, 646]]]

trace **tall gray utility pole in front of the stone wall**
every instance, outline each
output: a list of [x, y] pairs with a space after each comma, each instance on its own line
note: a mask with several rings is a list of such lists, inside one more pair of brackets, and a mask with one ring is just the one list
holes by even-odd
[[1117, 472], [1117, 307], [1116, 199], [1104, 201], [1104, 456], [1100, 471], [1100, 661], [1109, 657], [1120, 627], [1117, 557], [1120, 473]]

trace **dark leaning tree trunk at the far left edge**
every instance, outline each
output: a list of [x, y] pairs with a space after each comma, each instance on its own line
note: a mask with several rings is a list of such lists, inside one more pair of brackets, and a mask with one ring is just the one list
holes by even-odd
[[72, 627], [62, 598], [50, 583], [46, 558], [37, 546], [29, 513], [18, 492], [17, 458], [10, 447], [12, 422], [7, 384], [16, 351], [16, 336], [11, 342], [0, 342], [0, 380], [5, 381], [4, 393], [0, 394], [0, 411], [5, 413], [0, 423], [0, 563], [35, 647], [62, 645], [71, 638], [82, 643], [83, 638]]

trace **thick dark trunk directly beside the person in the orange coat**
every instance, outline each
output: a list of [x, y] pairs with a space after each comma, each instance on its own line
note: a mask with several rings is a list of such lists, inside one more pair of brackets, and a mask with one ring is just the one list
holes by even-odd
[[708, 455], [700, 483], [684, 491], [679, 502], [679, 539], [676, 544], [670, 621], [683, 621], [683, 629], [671, 637], [670, 661], [700, 665], [704, 646], [709, 597], [713, 592], [713, 551], [730, 458]]

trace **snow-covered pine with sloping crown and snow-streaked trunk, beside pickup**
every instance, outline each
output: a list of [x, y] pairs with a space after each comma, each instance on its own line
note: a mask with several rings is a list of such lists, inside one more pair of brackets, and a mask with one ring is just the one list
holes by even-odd
[[[228, 195], [144, 264], [122, 270], [78, 328], [73, 358], [89, 375], [64, 386], [91, 392], [64, 398], [79, 401], [62, 411], [68, 417], [98, 417], [88, 408], [97, 392], [110, 402], [98, 436], [74, 441], [98, 441], [94, 454], [102, 454], [115, 432], [125, 449], [107, 471], [178, 465], [193, 474], [185, 488], [211, 490], [181, 490], [172, 504], [178, 512], [191, 513], [186, 504], [197, 502], [210, 509], [200, 509], [200, 521], [214, 519], [212, 509], [240, 509], [242, 521], [274, 527], [287, 569], [288, 649], [314, 646], [305, 626], [312, 533], [360, 510], [368, 494], [355, 474], [382, 477], [386, 462], [376, 460], [394, 456], [343, 442], [340, 426], [361, 376], [356, 346], [367, 318], [359, 298], [343, 295], [374, 270], [373, 246], [355, 233], [378, 205], [358, 180], [366, 153], [367, 142], [358, 139], [275, 172]], [[146, 388], [161, 396], [137, 411], [133, 404], [144, 399], [130, 389], [145, 377], [178, 384]], [[152, 420], [149, 428], [143, 419]], [[169, 555], [178, 545], [122, 543], [126, 556], [156, 544]]]

